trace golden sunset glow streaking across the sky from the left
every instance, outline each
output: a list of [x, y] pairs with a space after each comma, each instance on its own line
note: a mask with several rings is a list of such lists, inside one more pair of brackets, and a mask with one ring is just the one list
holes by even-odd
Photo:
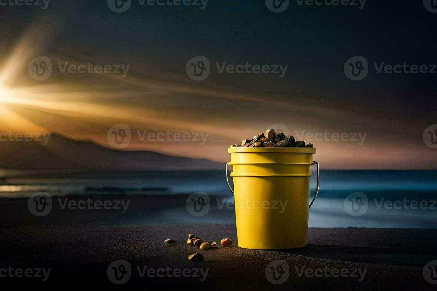
[[[93, 58], [87, 55], [64, 51], [62, 45], [55, 49], [61, 53], [52, 53], [47, 47], [55, 37], [47, 31], [51, 31], [50, 27], [33, 21], [19, 34], [19, 41], [1, 62], [0, 126], [11, 124], [22, 130], [56, 133], [70, 140], [89, 140], [114, 149], [108, 143], [108, 130], [114, 125], [126, 124], [132, 138], [125, 147], [118, 149], [120, 151], [156, 151], [224, 162], [228, 154], [220, 150], [223, 145], [240, 142], [235, 140], [237, 136], [252, 137], [259, 128], [278, 125], [299, 139], [305, 139], [309, 134], [315, 146], [329, 149], [329, 154], [328, 151], [318, 154], [319, 162], [327, 168], [413, 166], [394, 158], [401, 156], [411, 157], [417, 167], [434, 167], [425, 154], [430, 151], [428, 147], [412, 151], [412, 147], [401, 146], [405, 142], [420, 145], [422, 141], [417, 141], [415, 135], [428, 126], [420, 120], [409, 122], [407, 116], [363, 105], [359, 99], [351, 102], [336, 99], [336, 94], [340, 93], [326, 96], [300, 93], [299, 84], [288, 86], [288, 82], [281, 82], [278, 88], [262, 91], [256, 86], [263, 82], [270, 84], [274, 79], [264, 81], [271, 77], [257, 74], [248, 74], [254, 78], [250, 82], [253, 89], [241, 89], [244, 86], [238, 82], [232, 85], [235, 75], [220, 75], [218, 78], [228, 78], [225, 82], [231, 85], [217, 86], [208, 79], [190, 82], [184, 73], [177, 73], [182, 75], [181, 79], [173, 80], [171, 75], [143, 72], [149, 62], [153, 62], [147, 55], [138, 60], [127, 57], [121, 63], [122, 55], [118, 53], [108, 60], [96, 57], [94, 62], [90, 62]], [[184, 70], [187, 60], [189, 58], [183, 59], [180, 66], [172, 69]], [[46, 79], [38, 80], [31, 74], [32, 69], [44, 73], [49, 62], [51, 71]], [[103, 69], [94, 72], [98, 68], [95, 63], [99, 62], [102, 68], [106, 63], [106, 67], [118, 68], [121, 73], [104, 72]], [[80, 74], [83, 68], [87, 68], [86, 73]], [[275, 114], [266, 114], [269, 112]], [[341, 122], [338, 116], [341, 116]], [[385, 131], [390, 128], [405, 134], [402, 143], [396, 135], [386, 138]], [[166, 132], [193, 137], [196, 133], [203, 134], [208, 136], [208, 141], [145, 139], [147, 134]], [[337, 138], [340, 141], [336, 141], [336, 135], [346, 135], [350, 140], [341, 142]], [[316, 137], [323, 138], [318, 140]], [[381, 149], [390, 151], [378, 159], [368, 158], [369, 154], [376, 154], [375, 151]]]

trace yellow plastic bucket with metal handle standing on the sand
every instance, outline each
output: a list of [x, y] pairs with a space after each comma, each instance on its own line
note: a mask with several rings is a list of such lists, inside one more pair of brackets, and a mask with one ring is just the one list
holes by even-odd
[[[226, 181], [235, 196], [238, 246], [280, 250], [307, 245], [308, 212], [319, 192], [319, 164], [311, 147], [229, 147]], [[309, 204], [311, 165], [317, 166], [316, 195]], [[228, 166], [232, 165], [232, 191]]]

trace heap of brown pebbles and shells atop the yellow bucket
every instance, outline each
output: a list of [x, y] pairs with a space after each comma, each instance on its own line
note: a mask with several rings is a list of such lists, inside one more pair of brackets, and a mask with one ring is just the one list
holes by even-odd
[[312, 147], [303, 140], [296, 141], [294, 137], [283, 133], [276, 133], [274, 129], [268, 129], [262, 134], [253, 136], [252, 139], [242, 140], [241, 144], [232, 144], [231, 147]]

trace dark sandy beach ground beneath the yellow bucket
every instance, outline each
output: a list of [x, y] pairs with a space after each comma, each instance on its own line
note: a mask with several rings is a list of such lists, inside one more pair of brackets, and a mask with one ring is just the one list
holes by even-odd
[[[298, 250], [246, 250], [238, 247], [234, 223], [198, 223], [178, 219], [183, 197], [124, 197], [132, 208], [124, 214], [110, 210], [61, 210], [53, 208], [45, 217], [30, 215], [27, 199], [1, 199], [0, 268], [51, 268], [49, 278], [0, 278], [18, 289], [42, 286], [70, 288], [157, 288], [189, 287], [194, 290], [431, 290], [436, 285], [423, 278], [425, 264], [437, 259], [436, 229], [309, 229], [308, 243]], [[164, 204], [164, 205], [163, 205]], [[168, 213], [174, 215], [169, 215]], [[214, 211], [212, 211], [214, 213]], [[232, 211], [222, 211], [232, 216]], [[169, 218], [170, 217], [170, 218]], [[229, 219], [229, 218], [227, 218]], [[208, 219], [204, 219], [207, 221]], [[204, 240], [220, 242], [229, 237], [230, 247], [201, 251], [186, 246], [188, 233]], [[174, 246], [163, 240], [173, 238]], [[201, 252], [204, 262], [191, 262], [187, 256]], [[132, 277], [124, 285], [108, 280], [106, 270], [115, 260], [127, 260]], [[271, 284], [264, 274], [274, 260], [285, 260], [288, 280]], [[200, 277], [144, 277], [137, 267], [208, 269]], [[317, 268], [366, 270], [357, 277], [299, 277], [300, 271]]]

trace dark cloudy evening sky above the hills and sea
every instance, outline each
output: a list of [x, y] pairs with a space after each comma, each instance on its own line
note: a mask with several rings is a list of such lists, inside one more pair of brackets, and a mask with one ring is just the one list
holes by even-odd
[[[436, 150], [423, 143], [422, 134], [437, 123], [437, 74], [378, 74], [374, 66], [374, 62], [437, 64], [433, 29], [437, 13], [425, 9], [422, 1], [368, 0], [359, 9], [299, 6], [294, 0], [284, 12], [273, 13], [261, 0], [209, 0], [205, 9], [141, 6], [138, 0], [132, 0], [126, 12], [114, 13], [106, 0], [51, 0], [45, 10], [0, 6], [0, 15], [6, 44], [3, 64], [18, 41], [26, 38], [25, 31], [40, 25], [50, 41], [45, 41], [33, 57], [129, 64], [128, 77], [133, 80], [133, 85], [125, 79], [110, 84], [99, 81], [99, 85], [76, 75], [57, 75], [45, 86], [69, 83], [75, 84], [74, 89], [83, 86], [90, 92], [117, 91], [117, 96], [99, 92], [81, 101], [143, 107], [156, 114], [150, 120], [182, 125], [179, 130], [184, 130], [184, 122], [186, 130], [193, 130], [193, 124], [204, 124], [212, 137], [208, 149], [188, 144], [179, 151], [175, 148], [180, 144], [153, 147], [139, 142], [132, 142], [127, 149], [155, 148], [170, 154], [210, 157], [223, 146], [281, 123], [291, 131], [367, 132], [367, 145], [329, 144], [326, 140], [319, 143], [319, 159], [326, 162], [341, 156], [333, 153], [336, 148], [349, 156], [360, 155], [356, 162], [350, 159], [342, 167], [336, 161], [332, 168], [384, 168], [383, 163], [392, 159], [396, 161], [388, 168], [435, 168], [432, 160]], [[209, 77], [203, 81], [191, 80], [185, 72], [188, 60], [198, 55], [206, 56], [212, 65]], [[352, 81], [343, 65], [357, 55], [368, 61], [368, 75]], [[282, 78], [275, 74], [219, 74], [215, 62], [282, 64], [288, 68]], [[26, 86], [43, 85], [29, 80], [28, 75], [26, 78], [20, 78]], [[26, 110], [35, 110], [30, 107]], [[19, 111], [12, 105], [10, 109]], [[26, 114], [47, 130], [70, 138], [92, 139], [104, 146], [108, 146], [104, 144], [108, 126], [117, 123], [129, 124], [132, 130], [153, 128], [157, 132], [172, 128], [169, 123], [128, 120], [128, 113], [112, 116], [114, 120], [108, 124], [100, 120], [108, 120], [106, 116], [95, 116], [94, 120], [91, 116], [68, 128], [68, 120], [63, 117], [52, 116], [50, 120], [56, 120], [56, 126], [50, 127], [44, 119], [47, 116]], [[104, 133], [103, 137], [97, 137], [99, 132]], [[389, 157], [386, 151], [391, 152]], [[411, 164], [406, 155], [417, 156], [418, 160]], [[385, 158], [381, 161], [381, 157]], [[379, 161], [372, 164], [372, 158]], [[223, 151], [212, 159], [226, 161], [227, 156]]]

